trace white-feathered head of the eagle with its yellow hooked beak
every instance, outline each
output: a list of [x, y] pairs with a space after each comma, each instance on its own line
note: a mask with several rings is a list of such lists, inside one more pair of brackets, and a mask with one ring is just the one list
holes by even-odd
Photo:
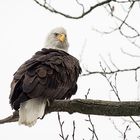
[[67, 33], [63, 27], [55, 28], [48, 34], [45, 48], [58, 49], [67, 52], [68, 47]]

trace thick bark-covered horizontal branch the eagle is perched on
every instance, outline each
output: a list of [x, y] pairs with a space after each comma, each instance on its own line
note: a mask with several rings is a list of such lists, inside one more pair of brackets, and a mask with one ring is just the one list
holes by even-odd
[[[47, 107], [45, 113], [51, 112], [82, 113], [102, 116], [139, 116], [140, 101], [102, 101], [91, 99], [56, 100]], [[0, 120], [0, 124], [18, 121], [18, 111]]]

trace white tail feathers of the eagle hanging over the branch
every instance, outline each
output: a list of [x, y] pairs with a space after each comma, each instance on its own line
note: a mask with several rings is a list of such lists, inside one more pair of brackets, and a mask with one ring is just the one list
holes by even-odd
[[30, 99], [20, 104], [19, 124], [33, 126], [38, 118], [42, 118], [46, 107], [46, 101], [41, 98]]

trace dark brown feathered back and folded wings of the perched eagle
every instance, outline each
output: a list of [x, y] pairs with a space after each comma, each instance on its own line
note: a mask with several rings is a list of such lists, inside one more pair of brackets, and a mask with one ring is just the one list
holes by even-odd
[[17, 110], [21, 102], [31, 98], [70, 98], [77, 90], [80, 72], [79, 62], [73, 56], [60, 50], [42, 49], [14, 74], [10, 104]]

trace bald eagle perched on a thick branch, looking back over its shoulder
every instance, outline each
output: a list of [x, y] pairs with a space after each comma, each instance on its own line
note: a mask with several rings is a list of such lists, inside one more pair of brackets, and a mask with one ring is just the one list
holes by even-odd
[[68, 54], [66, 30], [53, 29], [45, 47], [15, 72], [9, 96], [12, 109], [19, 110], [19, 124], [33, 126], [53, 100], [69, 99], [77, 91], [79, 61]]

